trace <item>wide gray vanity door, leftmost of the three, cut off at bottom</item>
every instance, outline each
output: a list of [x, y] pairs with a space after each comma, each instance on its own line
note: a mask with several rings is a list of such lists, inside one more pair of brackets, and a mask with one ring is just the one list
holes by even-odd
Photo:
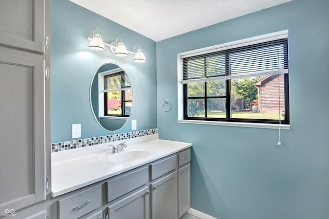
[[150, 190], [144, 187], [108, 207], [109, 219], [149, 219]]

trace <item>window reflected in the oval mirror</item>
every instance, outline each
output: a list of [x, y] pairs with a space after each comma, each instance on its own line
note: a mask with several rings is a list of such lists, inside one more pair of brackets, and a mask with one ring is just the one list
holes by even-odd
[[104, 75], [104, 116], [129, 117], [133, 104], [130, 82], [124, 71]]

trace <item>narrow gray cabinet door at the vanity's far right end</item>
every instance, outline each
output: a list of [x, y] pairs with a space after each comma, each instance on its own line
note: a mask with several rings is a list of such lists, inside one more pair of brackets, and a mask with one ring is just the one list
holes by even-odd
[[190, 163], [178, 169], [178, 217], [184, 215], [190, 208], [191, 195], [191, 165]]

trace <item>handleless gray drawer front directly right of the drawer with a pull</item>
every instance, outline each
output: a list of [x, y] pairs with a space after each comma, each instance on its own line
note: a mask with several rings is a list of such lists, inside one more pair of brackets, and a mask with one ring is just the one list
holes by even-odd
[[148, 167], [130, 171], [127, 174], [106, 182], [107, 202], [141, 187], [149, 182]]

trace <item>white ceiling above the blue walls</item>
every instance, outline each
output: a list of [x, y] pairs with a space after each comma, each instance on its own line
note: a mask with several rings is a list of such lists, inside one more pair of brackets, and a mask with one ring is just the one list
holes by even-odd
[[69, 0], [154, 41], [292, 0]]

